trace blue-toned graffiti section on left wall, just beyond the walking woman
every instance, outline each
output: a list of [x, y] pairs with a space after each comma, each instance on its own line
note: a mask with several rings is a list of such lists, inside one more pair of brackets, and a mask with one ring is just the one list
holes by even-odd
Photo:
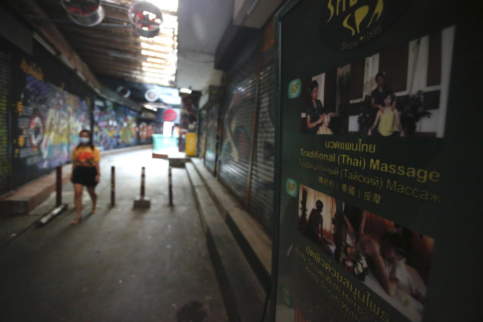
[[94, 107], [94, 144], [103, 150], [136, 145], [137, 113], [109, 100], [96, 102], [102, 104]]

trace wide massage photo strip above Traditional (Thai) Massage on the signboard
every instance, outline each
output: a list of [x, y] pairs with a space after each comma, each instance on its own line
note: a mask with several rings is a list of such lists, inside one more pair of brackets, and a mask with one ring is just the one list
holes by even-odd
[[444, 137], [454, 31], [451, 26], [301, 77], [307, 94], [300, 96], [300, 133]]

